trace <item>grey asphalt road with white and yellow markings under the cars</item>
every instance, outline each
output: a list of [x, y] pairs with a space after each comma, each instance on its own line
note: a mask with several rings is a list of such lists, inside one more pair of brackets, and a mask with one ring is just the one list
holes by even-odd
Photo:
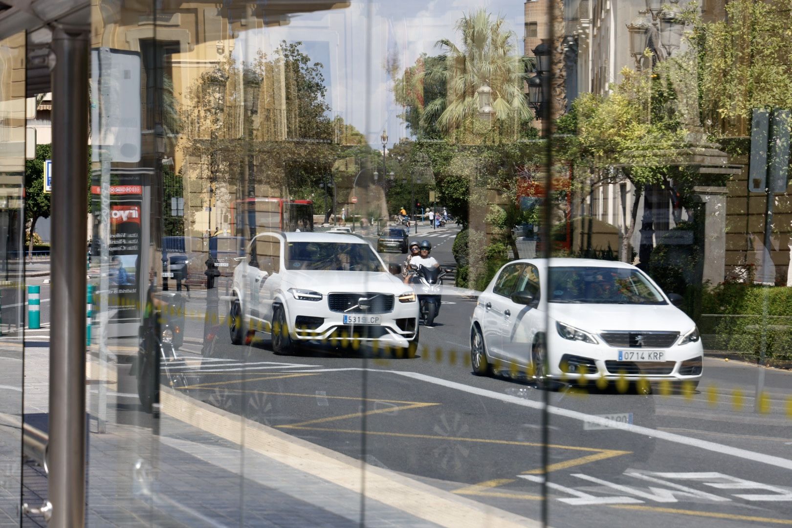
[[[449, 234], [427, 237], [441, 264], [453, 264]], [[279, 356], [264, 336], [235, 347], [222, 329], [211, 358], [199, 359], [204, 323], [195, 318], [183, 350], [195, 359], [172, 371], [185, 374], [191, 397], [532, 519], [546, 395], [551, 526], [792, 524], [792, 374], [708, 358], [694, 394], [544, 393], [508, 375], [471, 374], [474, 302], [444, 298], [409, 359], [351, 348]], [[191, 303], [200, 306], [200, 294]], [[604, 427], [604, 416], [626, 425]]]

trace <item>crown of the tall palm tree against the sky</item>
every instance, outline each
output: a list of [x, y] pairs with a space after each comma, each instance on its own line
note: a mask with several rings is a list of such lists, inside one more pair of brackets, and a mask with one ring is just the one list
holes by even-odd
[[477, 116], [476, 91], [483, 85], [492, 89], [493, 124], [531, 119], [523, 92], [527, 57], [517, 55], [516, 36], [504, 25], [503, 17], [493, 21], [485, 9], [479, 9], [463, 15], [455, 25], [461, 47], [448, 39], [437, 41], [445, 60], [427, 70], [425, 76], [430, 82], [443, 83], [446, 93], [429, 102], [421, 116], [422, 124], [435, 123], [446, 133], [459, 129]]

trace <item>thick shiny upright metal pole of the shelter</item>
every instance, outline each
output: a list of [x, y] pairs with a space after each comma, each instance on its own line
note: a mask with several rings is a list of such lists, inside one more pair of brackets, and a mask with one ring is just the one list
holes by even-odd
[[55, 28], [48, 502], [56, 528], [84, 526], [86, 509], [88, 47], [87, 28]]

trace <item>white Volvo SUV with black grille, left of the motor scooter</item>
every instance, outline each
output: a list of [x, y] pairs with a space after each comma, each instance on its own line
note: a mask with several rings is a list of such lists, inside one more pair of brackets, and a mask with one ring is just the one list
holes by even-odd
[[238, 260], [230, 304], [234, 344], [261, 330], [272, 334], [272, 349], [281, 354], [300, 341], [417, 346], [415, 294], [360, 237], [272, 231], [254, 237]]

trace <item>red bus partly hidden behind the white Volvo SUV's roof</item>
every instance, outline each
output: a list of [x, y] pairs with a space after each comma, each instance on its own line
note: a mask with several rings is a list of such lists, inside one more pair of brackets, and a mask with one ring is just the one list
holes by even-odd
[[269, 197], [238, 199], [231, 204], [231, 223], [231, 233], [248, 241], [262, 230], [313, 231], [314, 202]]

